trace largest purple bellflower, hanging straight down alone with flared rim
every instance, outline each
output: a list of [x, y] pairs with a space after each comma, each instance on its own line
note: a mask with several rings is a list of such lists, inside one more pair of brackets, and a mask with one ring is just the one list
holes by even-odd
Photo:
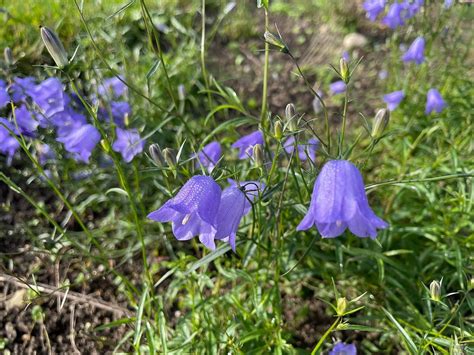
[[316, 225], [323, 238], [341, 235], [346, 228], [358, 237], [377, 236], [388, 226], [369, 206], [362, 175], [347, 160], [328, 161], [316, 179], [308, 213], [296, 230]]

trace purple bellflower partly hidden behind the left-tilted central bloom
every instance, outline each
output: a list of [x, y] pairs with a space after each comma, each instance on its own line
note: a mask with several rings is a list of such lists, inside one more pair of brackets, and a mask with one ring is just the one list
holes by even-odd
[[242, 181], [237, 184], [230, 180], [231, 186], [221, 195], [219, 211], [217, 213], [216, 239], [229, 242], [235, 251], [235, 238], [240, 221], [250, 211], [251, 201], [258, 196], [265, 187], [258, 181]]

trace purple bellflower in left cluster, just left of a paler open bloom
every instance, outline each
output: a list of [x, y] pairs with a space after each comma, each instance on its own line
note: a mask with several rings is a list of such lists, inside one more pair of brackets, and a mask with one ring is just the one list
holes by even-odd
[[100, 141], [99, 131], [90, 124], [74, 123], [64, 130], [56, 140], [64, 144], [64, 149], [73, 154], [74, 159], [89, 162], [97, 143]]

